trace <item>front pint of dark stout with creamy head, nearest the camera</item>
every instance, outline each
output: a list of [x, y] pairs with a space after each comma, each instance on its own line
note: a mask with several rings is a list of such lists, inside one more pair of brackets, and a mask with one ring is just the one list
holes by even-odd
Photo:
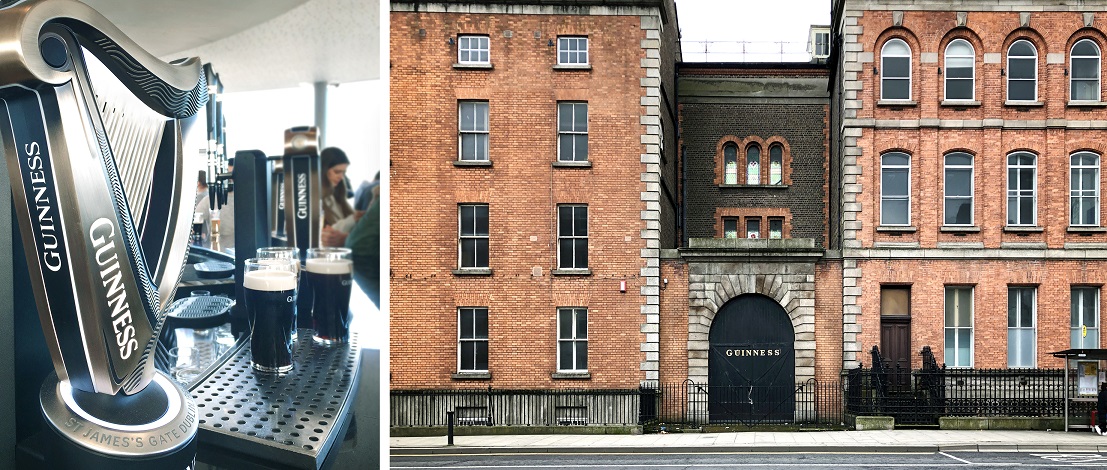
[[242, 288], [250, 322], [250, 364], [258, 372], [292, 369], [297, 264], [279, 259], [246, 260]]

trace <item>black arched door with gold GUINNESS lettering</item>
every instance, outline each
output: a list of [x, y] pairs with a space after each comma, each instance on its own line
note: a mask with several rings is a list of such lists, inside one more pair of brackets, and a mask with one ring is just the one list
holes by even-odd
[[796, 408], [796, 333], [775, 300], [745, 294], [711, 325], [707, 410], [712, 422], [790, 422]]

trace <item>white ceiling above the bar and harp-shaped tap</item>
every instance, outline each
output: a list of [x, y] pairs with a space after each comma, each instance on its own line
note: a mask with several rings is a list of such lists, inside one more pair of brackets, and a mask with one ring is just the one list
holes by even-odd
[[164, 60], [210, 62], [226, 92], [380, 77], [379, 0], [84, 0]]

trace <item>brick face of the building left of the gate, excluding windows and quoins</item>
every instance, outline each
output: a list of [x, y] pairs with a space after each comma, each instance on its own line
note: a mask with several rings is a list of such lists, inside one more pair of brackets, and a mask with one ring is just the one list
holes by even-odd
[[[391, 386], [637, 387], [640, 18], [394, 12], [391, 29]], [[457, 51], [447, 40], [459, 33], [489, 35], [493, 70], [452, 66]], [[589, 36], [591, 71], [552, 69], [547, 41], [558, 34]], [[461, 98], [489, 102], [492, 167], [453, 165]], [[589, 103], [591, 168], [551, 167], [559, 100]], [[451, 273], [462, 202], [489, 205], [492, 276]], [[550, 274], [558, 203], [589, 205], [591, 275]], [[490, 380], [451, 378], [458, 306], [488, 307]], [[590, 379], [550, 377], [558, 306], [589, 307]]]

